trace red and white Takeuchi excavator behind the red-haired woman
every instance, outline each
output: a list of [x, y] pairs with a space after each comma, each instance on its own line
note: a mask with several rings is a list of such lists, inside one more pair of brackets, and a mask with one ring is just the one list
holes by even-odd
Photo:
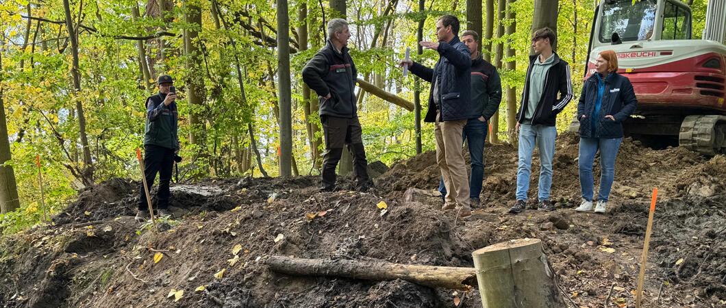
[[709, 0], [701, 39], [692, 21], [678, 0], [600, 1], [584, 77], [600, 51], [614, 50], [638, 100], [626, 136], [714, 156], [726, 153], [726, 0]]

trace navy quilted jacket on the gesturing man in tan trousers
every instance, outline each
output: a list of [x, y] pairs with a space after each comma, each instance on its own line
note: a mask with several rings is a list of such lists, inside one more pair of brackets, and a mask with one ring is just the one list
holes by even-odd
[[439, 80], [440, 122], [466, 120], [473, 115], [471, 104], [471, 56], [466, 45], [454, 36], [449, 43], [439, 42], [439, 62], [433, 69], [413, 62], [411, 72], [431, 83], [428, 112], [424, 122], [436, 122], [433, 103], [434, 80]]

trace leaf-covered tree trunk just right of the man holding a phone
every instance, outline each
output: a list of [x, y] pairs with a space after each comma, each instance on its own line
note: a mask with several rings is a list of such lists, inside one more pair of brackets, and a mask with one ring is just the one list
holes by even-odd
[[184, 52], [186, 53], [187, 75], [187, 101], [189, 101], [189, 143], [201, 145], [204, 136], [204, 121], [201, 119], [201, 110], [205, 96], [204, 74], [202, 72], [203, 58], [197, 37], [198, 30], [202, 28], [202, 12], [195, 1], [185, 1], [187, 8], [184, 19], [190, 25], [185, 31]]

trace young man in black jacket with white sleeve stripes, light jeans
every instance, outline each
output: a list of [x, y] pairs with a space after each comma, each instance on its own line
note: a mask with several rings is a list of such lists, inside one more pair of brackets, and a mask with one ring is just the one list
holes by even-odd
[[[570, 66], [552, 51], [556, 41], [550, 28], [542, 28], [532, 35], [535, 55], [529, 57], [522, 101], [517, 114], [516, 130], [519, 133], [519, 165], [517, 168], [517, 201], [510, 213], [518, 214], [526, 208], [529, 191], [529, 173], [532, 151], [539, 148], [538, 209], [552, 211], [550, 202], [552, 186], [552, 157], [555, 156], [557, 114], [572, 99]], [[559, 97], [558, 97], [559, 93]]]

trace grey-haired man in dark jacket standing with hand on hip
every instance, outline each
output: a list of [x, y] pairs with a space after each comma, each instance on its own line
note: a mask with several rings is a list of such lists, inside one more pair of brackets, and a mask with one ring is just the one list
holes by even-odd
[[363, 147], [362, 129], [354, 92], [358, 72], [348, 54], [348, 22], [340, 18], [327, 24], [325, 47], [303, 68], [303, 81], [320, 96], [320, 122], [325, 135], [322, 166], [322, 191], [335, 191], [335, 167], [343, 146], [353, 154], [356, 189], [368, 191], [368, 162]]

